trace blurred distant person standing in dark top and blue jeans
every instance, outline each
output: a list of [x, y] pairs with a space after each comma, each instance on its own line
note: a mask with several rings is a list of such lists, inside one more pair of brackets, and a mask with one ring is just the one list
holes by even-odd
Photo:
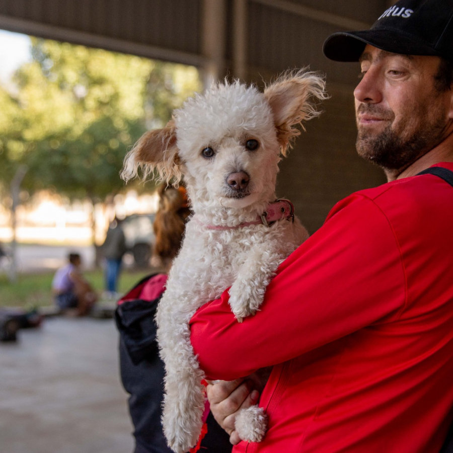
[[108, 298], [118, 295], [118, 277], [121, 272], [123, 255], [126, 253], [126, 238], [121, 226], [122, 219], [115, 216], [107, 230], [104, 244], [101, 246], [105, 258], [105, 289]]

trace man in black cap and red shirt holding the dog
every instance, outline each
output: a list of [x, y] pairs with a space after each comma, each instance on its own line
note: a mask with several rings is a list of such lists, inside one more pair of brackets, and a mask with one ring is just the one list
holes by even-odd
[[[360, 61], [357, 151], [389, 183], [340, 201], [238, 324], [228, 292], [192, 318], [207, 379], [274, 365], [262, 442], [239, 442], [249, 380], [208, 387], [234, 452], [433, 452], [453, 413], [453, 2], [401, 0], [324, 45]], [[239, 443], [238, 443], [239, 442]]]

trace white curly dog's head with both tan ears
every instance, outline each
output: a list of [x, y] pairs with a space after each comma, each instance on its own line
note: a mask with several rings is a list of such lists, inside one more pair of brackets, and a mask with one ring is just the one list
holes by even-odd
[[157, 170], [161, 180], [184, 177], [194, 211], [253, 208], [275, 196], [277, 164], [286, 155], [294, 126], [318, 112], [324, 80], [311, 72], [283, 75], [260, 93], [239, 82], [218, 84], [188, 99], [163, 129], [145, 133], [128, 153], [128, 180]]

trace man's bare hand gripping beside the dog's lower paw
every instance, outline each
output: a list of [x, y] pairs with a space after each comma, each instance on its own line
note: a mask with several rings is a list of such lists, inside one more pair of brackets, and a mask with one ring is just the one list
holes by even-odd
[[235, 431], [238, 411], [247, 409], [258, 402], [260, 394], [254, 390], [254, 382], [248, 378], [235, 381], [217, 381], [206, 388], [210, 410], [217, 423], [230, 434], [230, 442], [236, 445], [241, 441]]

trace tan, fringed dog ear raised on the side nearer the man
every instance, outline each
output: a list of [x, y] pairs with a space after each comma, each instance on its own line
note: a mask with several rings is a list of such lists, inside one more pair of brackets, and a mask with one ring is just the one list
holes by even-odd
[[264, 96], [274, 115], [283, 156], [286, 156], [291, 139], [300, 134], [293, 126], [301, 125], [304, 128], [302, 121], [321, 113], [313, 99], [326, 99], [324, 89], [325, 81], [320, 75], [302, 69], [283, 74], [264, 90]]

